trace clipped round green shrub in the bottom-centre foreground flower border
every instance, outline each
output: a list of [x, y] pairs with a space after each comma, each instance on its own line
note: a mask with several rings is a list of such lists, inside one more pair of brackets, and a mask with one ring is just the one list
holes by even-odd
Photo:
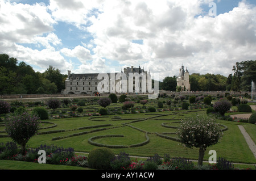
[[115, 154], [109, 148], [95, 148], [88, 155], [88, 167], [91, 169], [111, 169], [110, 162], [114, 158]]

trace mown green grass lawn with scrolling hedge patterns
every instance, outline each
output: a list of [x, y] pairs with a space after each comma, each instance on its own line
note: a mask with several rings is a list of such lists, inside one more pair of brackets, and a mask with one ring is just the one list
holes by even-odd
[[[139, 105], [139, 104], [138, 104]], [[112, 105], [112, 108], [118, 107], [119, 104]], [[147, 105], [149, 106], [149, 104]], [[142, 107], [142, 106], [141, 106]], [[167, 107], [167, 106], [166, 106]], [[93, 106], [89, 107], [90, 110]], [[88, 108], [88, 109], [89, 109]], [[175, 133], [175, 127], [179, 127], [179, 120], [184, 117], [189, 117], [193, 113], [206, 113], [206, 109], [196, 110], [180, 110], [180, 111], [162, 111], [155, 113], [129, 113], [121, 115], [109, 115], [109, 116], [85, 116], [85, 117], [72, 117], [63, 119], [51, 119], [44, 120], [47, 123], [41, 123], [40, 132], [47, 131], [62, 131], [57, 133], [38, 134], [32, 137], [27, 145], [30, 148], [36, 148], [41, 144], [55, 146], [63, 146], [64, 148], [73, 148], [75, 151], [82, 153], [89, 153], [93, 148], [97, 146], [89, 144], [88, 140], [94, 136], [105, 135], [123, 135], [123, 137], [104, 137], [93, 140], [98, 144], [105, 145], [123, 145], [128, 148], [112, 148], [115, 154], [125, 151], [135, 157], [151, 157], [154, 154], [159, 154], [161, 157], [164, 154], [169, 154], [171, 157], [184, 157], [188, 159], [198, 159], [199, 149], [185, 148], [179, 142], [169, 140], [158, 136], [156, 133]], [[204, 161], [208, 161], [210, 155], [209, 150], [216, 150], [217, 158], [224, 157], [230, 162], [234, 163], [247, 163], [256, 164], [256, 159], [253, 153], [246, 144], [240, 129], [237, 125], [243, 125], [246, 131], [249, 133], [254, 142], [256, 136], [256, 125], [249, 123], [238, 123], [234, 121], [217, 120], [218, 123], [228, 127], [227, 131], [224, 131], [224, 136], [220, 142], [216, 145], [210, 146], [205, 151]], [[47, 128], [53, 124], [56, 127]], [[172, 128], [163, 127], [164, 125], [172, 126]], [[100, 126], [98, 128], [92, 128], [92, 126]], [[105, 128], [105, 129], [102, 129]], [[4, 131], [4, 127], [0, 127], [0, 131]], [[140, 144], [149, 138], [149, 142], [143, 146], [129, 147], [130, 145]], [[75, 133], [82, 133], [81, 135]], [[0, 133], [6, 134], [6, 133]], [[169, 137], [175, 137], [175, 134], [166, 134]], [[58, 139], [56, 139], [58, 138]], [[11, 138], [0, 137], [0, 142], [11, 141]], [[13, 166], [17, 165], [17, 166]], [[17, 162], [17, 161], [0, 161], [0, 169], [71, 169], [71, 167], [65, 166], [49, 166], [40, 165], [38, 163]], [[245, 166], [248, 167], [248, 166]], [[83, 169], [83, 168], [72, 168]]]

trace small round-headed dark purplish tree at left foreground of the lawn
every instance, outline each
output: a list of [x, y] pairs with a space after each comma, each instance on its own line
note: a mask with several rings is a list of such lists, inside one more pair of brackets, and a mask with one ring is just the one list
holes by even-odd
[[27, 112], [21, 115], [12, 115], [5, 119], [5, 129], [9, 137], [22, 148], [22, 154], [26, 153], [26, 144], [39, 129], [39, 117]]

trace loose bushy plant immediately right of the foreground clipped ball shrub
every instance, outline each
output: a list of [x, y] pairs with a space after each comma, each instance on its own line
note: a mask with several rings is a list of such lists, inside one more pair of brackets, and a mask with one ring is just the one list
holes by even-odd
[[131, 163], [131, 159], [129, 154], [125, 152], [120, 152], [112, 161], [110, 162], [110, 166], [113, 170], [126, 169], [129, 167]]

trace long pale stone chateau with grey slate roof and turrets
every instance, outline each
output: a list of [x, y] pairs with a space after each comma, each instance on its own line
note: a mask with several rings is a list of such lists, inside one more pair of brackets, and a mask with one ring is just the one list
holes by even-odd
[[[65, 80], [65, 90], [63, 94], [90, 94], [94, 95], [97, 92], [109, 93], [109, 92], [130, 92], [129, 91], [129, 73], [133, 73], [135, 75], [140, 75], [138, 82], [133, 77], [133, 91], [135, 91], [135, 87], [139, 87], [139, 92], [142, 90], [142, 80], [150, 76], [150, 73], [144, 71], [144, 69], [124, 68], [121, 73], [86, 73], [86, 74], [73, 74], [70, 70], [68, 70], [68, 78]], [[138, 74], [137, 74], [138, 73]], [[102, 76], [101, 76], [102, 75]], [[126, 75], [126, 81], [123, 81], [123, 76]], [[142, 76], [143, 75], [143, 76]], [[100, 77], [99, 77], [100, 76]], [[116, 85], [118, 83], [123, 83], [122, 86], [118, 87], [119, 90], [116, 89]], [[100, 84], [100, 85], [99, 85]], [[136, 86], [135, 86], [136, 84]], [[146, 85], [147, 87], [147, 85]], [[100, 90], [98, 90], [100, 89]], [[138, 91], [138, 90], [137, 90]]]

